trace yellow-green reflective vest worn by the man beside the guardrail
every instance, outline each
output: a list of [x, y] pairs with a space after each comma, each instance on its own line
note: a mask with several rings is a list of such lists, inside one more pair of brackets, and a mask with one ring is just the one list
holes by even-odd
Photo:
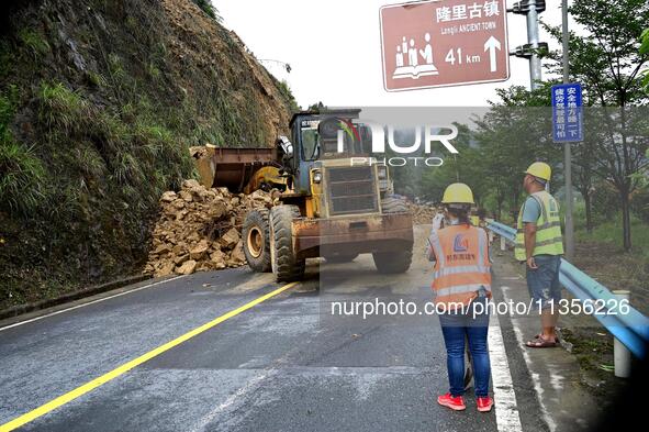
[[[536, 255], [562, 255], [563, 242], [561, 237], [561, 219], [559, 218], [559, 204], [555, 197], [541, 190], [530, 195], [540, 206], [541, 214], [536, 221], [536, 244], [533, 256]], [[518, 261], [526, 261], [525, 255], [525, 226], [523, 224], [523, 209], [525, 202], [518, 212], [518, 222], [516, 223], [516, 246], [514, 255]]]

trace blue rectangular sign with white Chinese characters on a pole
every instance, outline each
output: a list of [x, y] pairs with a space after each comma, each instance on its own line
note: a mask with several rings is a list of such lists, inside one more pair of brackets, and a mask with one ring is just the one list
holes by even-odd
[[581, 84], [552, 86], [552, 136], [556, 143], [583, 141]]

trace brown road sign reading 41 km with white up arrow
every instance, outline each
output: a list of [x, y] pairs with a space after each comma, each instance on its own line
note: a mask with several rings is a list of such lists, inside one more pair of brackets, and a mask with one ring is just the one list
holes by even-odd
[[382, 7], [385, 90], [506, 80], [506, 15], [505, 0], [440, 0]]

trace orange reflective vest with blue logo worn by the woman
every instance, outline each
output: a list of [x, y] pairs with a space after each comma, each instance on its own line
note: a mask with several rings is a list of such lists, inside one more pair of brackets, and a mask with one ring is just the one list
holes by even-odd
[[469, 304], [484, 288], [491, 297], [491, 263], [486, 232], [471, 225], [450, 225], [428, 239], [435, 253], [435, 303]]

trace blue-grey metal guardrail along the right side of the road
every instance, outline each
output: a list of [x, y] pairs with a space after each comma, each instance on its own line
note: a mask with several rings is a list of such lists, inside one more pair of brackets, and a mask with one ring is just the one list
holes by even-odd
[[[516, 230], [503, 223], [488, 221], [486, 228], [512, 243], [516, 239]], [[600, 300], [598, 303], [603, 304], [597, 304], [597, 310], [600, 306], [603, 306], [603, 308], [593, 315], [634, 355], [638, 358], [645, 358], [649, 344], [649, 318], [638, 312], [630, 304], [627, 313], [611, 310], [611, 306], [618, 303], [619, 297], [563, 258], [561, 258], [559, 267], [559, 280], [566, 289], [582, 302]]]

